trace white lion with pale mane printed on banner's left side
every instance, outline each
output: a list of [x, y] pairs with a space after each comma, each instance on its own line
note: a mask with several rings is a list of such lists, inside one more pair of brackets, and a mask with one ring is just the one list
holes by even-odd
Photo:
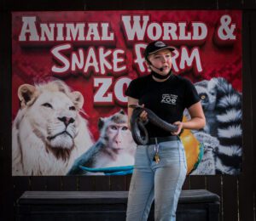
[[13, 175], [66, 175], [74, 159], [93, 144], [79, 115], [84, 97], [64, 82], [18, 89], [20, 111], [12, 129]]

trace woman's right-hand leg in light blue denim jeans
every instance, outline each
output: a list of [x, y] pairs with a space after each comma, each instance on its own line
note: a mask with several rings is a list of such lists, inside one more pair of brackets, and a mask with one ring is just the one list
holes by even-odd
[[155, 169], [155, 221], [176, 220], [177, 201], [187, 173], [186, 157], [182, 143], [173, 141], [168, 143], [172, 144], [171, 148], [169, 146], [169, 150], [166, 148], [168, 144], [165, 144], [166, 146], [160, 145], [160, 163]]

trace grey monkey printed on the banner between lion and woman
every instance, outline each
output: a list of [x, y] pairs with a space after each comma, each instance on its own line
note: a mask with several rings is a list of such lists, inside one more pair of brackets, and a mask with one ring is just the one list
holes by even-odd
[[127, 121], [128, 117], [123, 110], [112, 116], [100, 117], [99, 139], [74, 161], [67, 175], [103, 174], [84, 171], [80, 166], [99, 168], [133, 165], [137, 145], [132, 139]]

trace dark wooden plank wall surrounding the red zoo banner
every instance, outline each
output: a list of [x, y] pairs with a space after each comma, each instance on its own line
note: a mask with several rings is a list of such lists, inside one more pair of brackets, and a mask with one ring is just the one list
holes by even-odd
[[[25, 190], [128, 190], [131, 176], [11, 177], [11, 11], [118, 9], [241, 9], [243, 165], [239, 176], [188, 176], [184, 190], [207, 189], [221, 197], [220, 220], [251, 221], [256, 195], [256, 1], [255, 0], [1, 0], [0, 3], [0, 220], [15, 218]], [[255, 62], [255, 63], [254, 63]], [[254, 114], [253, 114], [254, 113]], [[255, 138], [254, 138], [255, 136]]]

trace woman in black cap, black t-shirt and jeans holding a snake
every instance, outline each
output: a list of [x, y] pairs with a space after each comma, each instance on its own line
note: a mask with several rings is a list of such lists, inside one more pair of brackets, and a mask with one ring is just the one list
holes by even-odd
[[[138, 145], [131, 178], [126, 213], [127, 221], [147, 220], [154, 200], [154, 220], [175, 220], [177, 201], [186, 177], [186, 157], [178, 134], [182, 129], [200, 129], [206, 120], [200, 98], [189, 80], [172, 74], [172, 51], [164, 42], [150, 42], [145, 59], [151, 74], [133, 80], [125, 94], [128, 96], [128, 120], [132, 108], [144, 105], [166, 122], [176, 124], [176, 133], [169, 133], [150, 122], [146, 124], [147, 145]], [[191, 116], [182, 122], [187, 108]], [[147, 121], [147, 112], [140, 115]], [[130, 126], [129, 126], [130, 127]]]

